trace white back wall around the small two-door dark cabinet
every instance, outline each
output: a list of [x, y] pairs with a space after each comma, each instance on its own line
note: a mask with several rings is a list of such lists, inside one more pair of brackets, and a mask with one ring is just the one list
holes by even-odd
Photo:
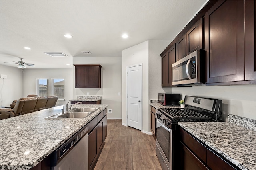
[[[102, 96], [102, 104], [108, 104], [108, 119], [122, 118], [122, 57], [73, 57], [73, 64], [100, 64], [101, 88], [74, 88], [75, 72], [73, 70], [73, 98], [77, 96]], [[74, 68], [74, 67], [73, 67]], [[118, 96], [118, 92], [120, 96]]]

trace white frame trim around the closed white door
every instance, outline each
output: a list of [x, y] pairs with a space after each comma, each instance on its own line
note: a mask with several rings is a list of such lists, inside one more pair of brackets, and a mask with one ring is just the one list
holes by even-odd
[[142, 83], [141, 83], [141, 131], [143, 131], [143, 63], [141, 64], [135, 64], [132, 66], [126, 66], [126, 126], [128, 126], [128, 68], [141, 66], [142, 72]]

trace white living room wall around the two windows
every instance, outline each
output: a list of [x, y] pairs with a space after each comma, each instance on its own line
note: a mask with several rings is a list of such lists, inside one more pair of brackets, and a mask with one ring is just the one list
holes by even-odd
[[[73, 99], [73, 69], [24, 69], [23, 76], [23, 96], [36, 94], [36, 78], [49, 78], [49, 94], [52, 95], [52, 78], [64, 78], [65, 80], [65, 99]], [[63, 100], [58, 100], [56, 106], [63, 105]]]

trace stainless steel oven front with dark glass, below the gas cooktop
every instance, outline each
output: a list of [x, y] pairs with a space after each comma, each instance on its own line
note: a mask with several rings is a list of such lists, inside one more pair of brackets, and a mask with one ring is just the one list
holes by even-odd
[[[156, 152], [158, 154], [159, 162], [162, 169], [171, 170], [172, 164], [172, 129], [165, 125], [165, 121], [168, 120], [162, 113], [156, 114]], [[159, 150], [158, 150], [159, 149]], [[161, 158], [162, 157], [162, 158]], [[164, 160], [164, 163], [161, 160]]]

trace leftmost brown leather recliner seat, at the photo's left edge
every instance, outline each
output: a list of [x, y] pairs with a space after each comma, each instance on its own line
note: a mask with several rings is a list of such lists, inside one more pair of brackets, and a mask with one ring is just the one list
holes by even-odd
[[0, 120], [20, 115], [24, 100], [18, 100], [13, 109], [0, 109]]

